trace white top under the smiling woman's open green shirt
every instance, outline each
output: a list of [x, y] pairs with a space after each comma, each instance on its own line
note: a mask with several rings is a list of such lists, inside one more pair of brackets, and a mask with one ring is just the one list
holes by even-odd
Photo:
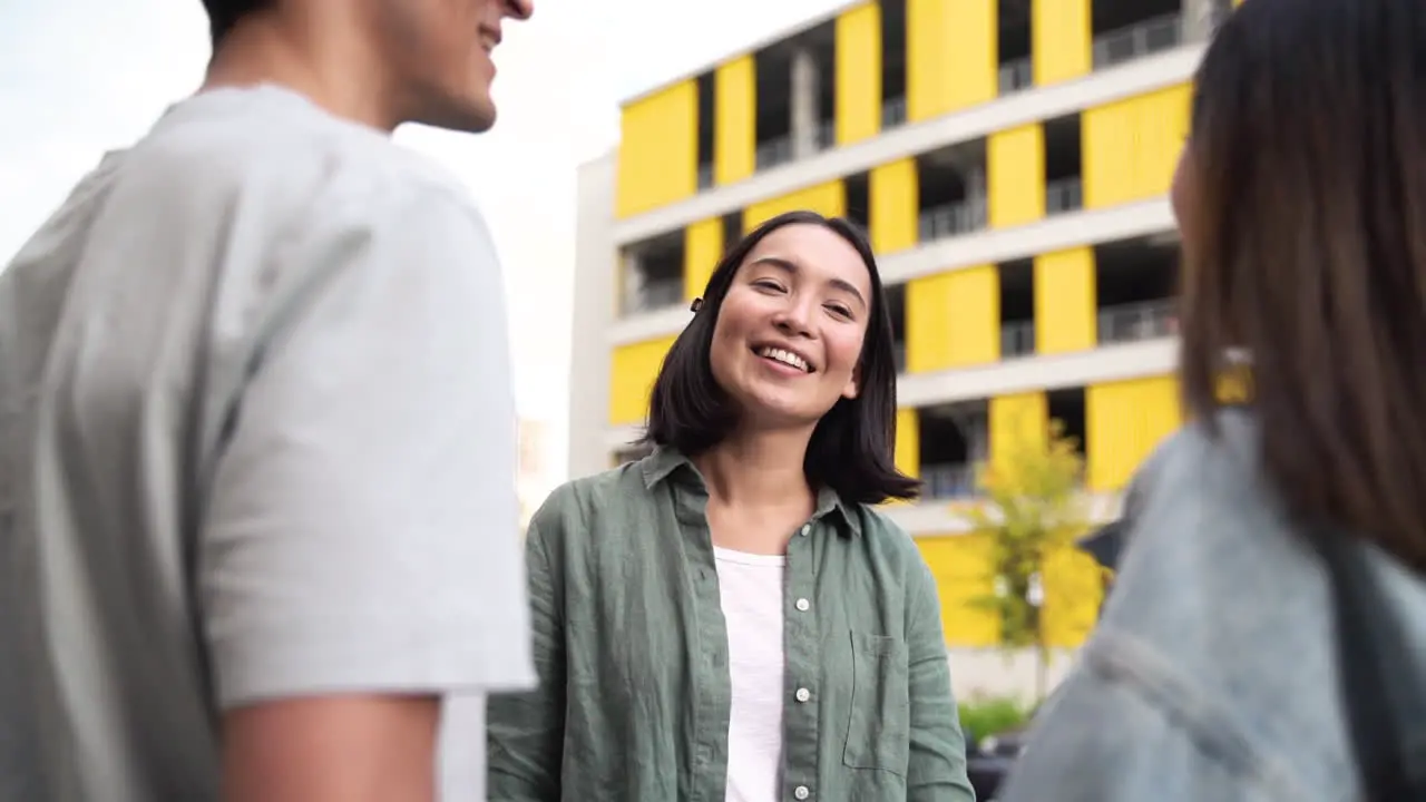
[[786, 558], [713, 547], [733, 704], [726, 802], [774, 802], [783, 765]]

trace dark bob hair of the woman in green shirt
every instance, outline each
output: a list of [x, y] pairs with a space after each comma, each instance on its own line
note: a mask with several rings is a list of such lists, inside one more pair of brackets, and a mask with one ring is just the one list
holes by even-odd
[[871, 245], [843, 218], [814, 211], [789, 211], [763, 223], [733, 245], [709, 277], [702, 303], [674, 340], [653, 382], [645, 444], [697, 455], [723, 441], [737, 425], [739, 411], [713, 378], [709, 352], [723, 298], [743, 260], [763, 237], [784, 225], [820, 225], [847, 241], [871, 274], [871, 317], [861, 345], [861, 387], [856, 398], [841, 398], [813, 430], [803, 467], [813, 487], [827, 487], [843, 501], [880, 504], [915, 498], [921, 484], [896, 469], [896, 357], [891, 315]]

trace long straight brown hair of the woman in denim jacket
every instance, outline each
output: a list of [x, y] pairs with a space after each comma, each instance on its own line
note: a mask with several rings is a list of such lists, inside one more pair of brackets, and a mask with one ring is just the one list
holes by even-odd
[[1188, 147], [1185, 407], [1246, 352], [1291, 514], [1426, 571], [1426, 3], [1243, 3]]

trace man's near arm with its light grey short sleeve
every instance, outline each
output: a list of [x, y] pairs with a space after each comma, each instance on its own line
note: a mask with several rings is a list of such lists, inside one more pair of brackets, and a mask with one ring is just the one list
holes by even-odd
[[200, 539], [225, 798], [426, 802], [439, 698], [533, 679], [503, 287], [453, 198], [319, 217]]

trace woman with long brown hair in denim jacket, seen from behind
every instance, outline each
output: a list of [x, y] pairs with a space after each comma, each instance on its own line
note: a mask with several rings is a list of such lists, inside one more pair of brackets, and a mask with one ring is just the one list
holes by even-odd
[[1004, 799], [1422, 799], [1426, 3], [1246, 0], [1196, 84], [1194, 422]]

